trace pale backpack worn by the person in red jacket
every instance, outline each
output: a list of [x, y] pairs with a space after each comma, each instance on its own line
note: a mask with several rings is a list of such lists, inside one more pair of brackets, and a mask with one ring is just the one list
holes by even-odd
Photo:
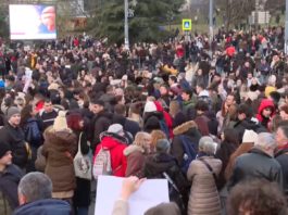
[[95, 179], [98, 179], [98, 176], [101, 175], [112, 175], [111, 154], [110, 151], [102, 146], [95, 157], [92, 175]]

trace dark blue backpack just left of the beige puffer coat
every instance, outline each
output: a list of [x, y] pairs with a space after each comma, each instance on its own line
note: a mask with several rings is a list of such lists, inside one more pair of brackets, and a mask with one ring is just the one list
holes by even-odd
[[180, 135], [179, 138], [181, 140], [181, 147], [183, 147], [183, 150], [184, 150], [184, 155], [183, 155], [183, 162], [181, 162], [181, 165], [180, 165], [180, 169], [186, 175], [190, 163], [197, 156], [197, 149], [195, 149], [195, 144], [191, 142], [189, 137], [187, 137], [185, 135]]

